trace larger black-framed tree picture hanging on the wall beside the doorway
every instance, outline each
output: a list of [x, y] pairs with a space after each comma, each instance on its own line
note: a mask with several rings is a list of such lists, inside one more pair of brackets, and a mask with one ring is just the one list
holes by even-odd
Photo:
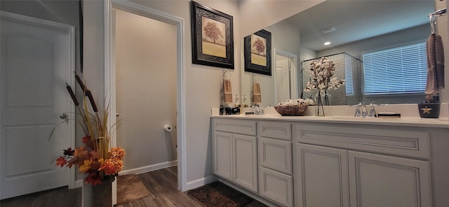
[[234, 69], [232, 16], [192, 1], [192, 62]]

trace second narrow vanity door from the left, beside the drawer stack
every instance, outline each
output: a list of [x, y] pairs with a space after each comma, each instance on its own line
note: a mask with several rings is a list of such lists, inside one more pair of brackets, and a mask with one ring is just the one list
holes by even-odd
[[255, 136], [233, 134], [234, 182], [257, 192], [257, 143]]

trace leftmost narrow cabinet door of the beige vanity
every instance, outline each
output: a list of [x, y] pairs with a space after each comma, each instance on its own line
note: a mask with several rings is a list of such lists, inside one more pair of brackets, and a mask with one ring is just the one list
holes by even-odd
[[215, 131], [213, 138], [213, 173], [228, 180], [233, 179], [232, 134]]

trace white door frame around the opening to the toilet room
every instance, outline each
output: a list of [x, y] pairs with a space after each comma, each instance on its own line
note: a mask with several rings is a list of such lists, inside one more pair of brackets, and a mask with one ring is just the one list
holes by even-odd
[[[115, 60], [114, 57], [114, 44], [113, 41], [115, 41], [114, 34], [112, 34], [113, 25], [111, 24], [113, 21], [113, 15], [112, 11], [114, 9], [123, 10], [127, 13], [133, 13], [135, 15], [139, 15], [141, 17], [147, 17], [152, 20], [158, 20], [160, 22], [164, 22], [166, 24], [171, 24], [175, 27], [175, 40], [173, 42], [175, 43], [175, 59], [172, 60], [172, 62], [175, 62], [175, 75], [170, 76], [172, 80], [175, 80], [175, 101], [172, 101], [175, 103], [175, 108], [172, 108], [172, 111], [175, 113], [175, 132], [171, 131], [171, 133], [175, 133], [176, 141], [172, 141], [172, 144], [175, 143], [175, 157], [177, 157], [177, 183], [178, 183], [178, 189], [183, 191], [187, 189], [187, 183], [186, 180], [186, 170], [185, 170], [185, 72], [184, 72], [184, 35], [183, 28], [184, 28], [184, 20], [180, 17], [175, 17], [173, 15], [168, 15], [167, 13], [162, 13], [158, 10], [154, 10], [152, 8], [147, 8], [145, 6], [142, 6], [138, 3], [133, 3], [130, 1], [105, 1], [105, 24], [107, 25], [105, 29], [105, 38], [106, 42], [109, 42], [109, 45], [106, 45], [106, 62], [107, 64], [110, 64], [110, 68], [105, 67], [105, 76], [107, 77], [105, 79], [105, 85], [111, 90], [108, 92], [114, 96], [116, 94], [116, 83], [118, 83], [121, 80], [116, 79], [116, 69], [115, 69]], [[153, 50], [160, 50], [161, 48], [152, 48]], [[142, 55], [142, 54], [136, 54], [136, 55]], [[144, 55], [144, 58], [145, 57]], [[151, 65], [149, 65], [151, 67]], [[159, 72], [163, 71], [164, 67], [158, 67]], [[158, 77], [158, 76], [156, 76]], [[160, 78], [163, 80], [163, 78]], [[163, 90], [161, 87], [156, 87], [159, 90]], [[152, 97], [151, 94], [148, 94], [149, 97], [151, 97], [152, 100], [158, 99], [159, 97]], [[115, 100], [116, 97], [112, 97], [112, 100]], [[151, 106], [146, 106], [151, 107]], [[116, 113], [116, 108], [114, 108], [114, 113]], [[119, 115], [120, 117], [120, 115]], [[126, 117], [120, 117], [120, 118], [126, 118]], [[119, 119], [117, 119], [119, 120]], [[169, 123], [166, 123], [169, 124]], [[158, 130], [163, 130], [163, 126], [158, 126]], [[166, 132], [164, 132], [166, 133]], [[173, 147], [173, 146], [172, 146]], [[168, 145], [166, 145], [166, 148], [168, 148]], [[148, 151], [147, 151], [148, 153]], [[140, 169], [137, 169], [140, 170]]]

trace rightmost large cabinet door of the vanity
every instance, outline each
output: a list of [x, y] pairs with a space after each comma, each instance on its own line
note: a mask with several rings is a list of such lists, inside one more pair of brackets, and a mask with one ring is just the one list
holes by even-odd
[[351, 206], [430, 207], [429, 162], [349, 151]]

